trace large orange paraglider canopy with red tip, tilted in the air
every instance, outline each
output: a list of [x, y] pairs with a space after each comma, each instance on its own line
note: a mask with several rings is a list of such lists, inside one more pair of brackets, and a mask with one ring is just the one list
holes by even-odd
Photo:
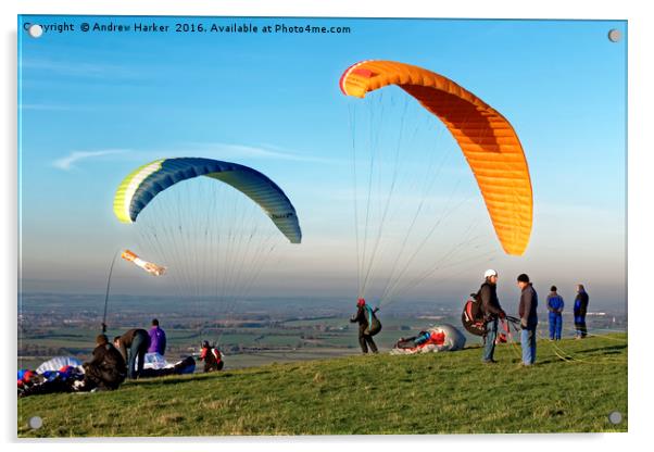
[[452, 133], [477, 179], [495, 234], [508, 254], [521, 255], [531, 235], [533, 200], [520, 140], [502, 114], [451, 79], [410, 64], [363, 61], [341, 76], [345, 96], [397, 85]]

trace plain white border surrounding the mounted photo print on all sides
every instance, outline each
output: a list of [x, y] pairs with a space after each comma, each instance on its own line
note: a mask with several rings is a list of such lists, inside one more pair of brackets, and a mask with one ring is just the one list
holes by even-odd
[[[88, 450], [89, 443], [96, 451], [112, 451], [121, 445], [155, 447], [162, 451], [179, 451], [189, 442], [219, 442], [218, 448], [252, 450], [265, 447], [272, 451], [331, 451], [338, 449], [373, 448], [374, 450], [404, 450], [408, 448], [486, 448], [500, 447], [503, 442], [511, 448], [529, 447], [530, 450], [575, 447], [594, 450], [639, 450], [639, 445], [651, 443], [652, 411], [652, 351], [649, 316], [654, 303], [650, 272], [654, 269], [651, 256], [654, 253], [652, 230], [651, 163], [654, 151], [649, 129], [653, 99], [651, 81], [652, 42], [654, 42], [654, 15], [646, 1], [569, 1], [549, 0], [541, 2], [512, 0], [466, 0], [458, 2], [408, 1], [381, 2], [359, 0], [290, 1], [275, 3], [265, 0], [234, 1], [184, 1], [164, 3], [161, 0], [99, 0], [92, 3], [75, 0], [10, 0], [1, 3], [3, 30], [2, 79], [3, 104], [2, 133], [2, 197], [0, 212], [2, 250], [0, 286], [4, 289], [3, 339], [0, 348], [2, 363], [14, 363], [16, 355], [16, 279], [17, 279], [17, 137], [16, 137], [16, 23], [17, 14], [121, 14], [121, 15], [222, 15], [222, 16], [344, 16], [344, 17], [463, 17], [463, 18], [586, 18], [627, 20], [629, 34], [629, 151], [628, 151], [628, 240], [629, 240], [629, 309], [636, 314], [629, 318], [629, 434], [588, 435], [495, 435], [495, 436], [429, 436], [429, 437], [239, 437], [239, 438], [190, 438], [190, 439], [85, 439], [85, 440], [16, 440], [16, 404], [13, 391], [13, 365], [1, 372], [3, 381], [2, 441], [10, 443], [9, 450]], [[649, 10], [649, 11], [647, 11]], [[647, 115], [650, 113], [650, 115]], [[647, 290], [649, 289], [649, 290]], [[7, 395], [7, 399], [4, 398]], [[148, 442], [156, 442], [148, 445]], [[181, 445], [184, 443], [184, 445]], [[121, 445], [118, 445], [121, 444]], [[202, 444], [189, 444], [202, 448]], [[7, 448], [7, 447], [5, 447]], [[7, 450], [7, 449], [5, 449]]]

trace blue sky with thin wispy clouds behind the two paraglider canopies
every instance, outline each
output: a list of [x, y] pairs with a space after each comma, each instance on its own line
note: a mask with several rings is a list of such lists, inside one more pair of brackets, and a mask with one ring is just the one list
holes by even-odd
[[[356, 111], [363, 118], [357, 116], [356, 125], [363, 129], [366, 114], [378, 110], [374, 100], [343, 97], [338, 80], [357, 61], [382, 59], [452, 78], [508, 118], [525, 149], [534, 201], [527, 252], [504, 255], [465, 160], [454, 152], [447, 134], [433, 134], [438, 155], [447, 156], [429, 193], [435, 212], [449, 209], [451, 201], [466, 204], [429, 238], [426, 252], [400, 286], [429, 271], [431, 256], [438, 261], [445, 255], [470, 223], [485, 254], [477, 258], [475, 243], [468, 242], [470, 249], [461, 250], [465, 265], [453, 273], [437, 271], [398, 297], [458, 300], [478, 287], [490, 266], [501, 275], [500, 296], [505, 299], [517, 297], [515, 276], [526, 272], [543, 296], [556, 284], [571, 299], [575, 284], [583, 282], [596, 305], [618, 310], [625, 305], [625, 22], [84, 16], [23, 21], [74, 24], [76, 30], [85, 22], [131, 26], [156, 22], [171, 30], [176, 23], [200, 22], [260, 28], [256, 34], [225, 34], [56, 33], [53, 27], [38, 39], [18, 34], [25, 292], [102, 292], [115, 250], [130, 246], [126, 243], [133, 239], [112, 212], [123, 177], [154, 159], [205, 156], [261, 171], [285, 190], [298, 211], [303, 243], [276, 249], [273, 265], [260, 275], [253, 294], [355, 297], [356, 248], [362, 243], [354, 227], [352, 140], [365, 137], [357, 135], [359, 128], [352, 133], [350, 117]], [[282, 23], [351, 30], [261, 32], [265, 25]], [[622, 33], [619, 42], [607, 39], [613, 28]], [[404, 99], [389, 92], [385, 102], [404, 105]], [[422, 113], [415, 105], [404, 115], [397, 109], [385, 113], [383, 134], [393, 133], [397, 118], [427, 122]], [[422, 147], [431, 149], [430, 133], [428, 124], [420, 128]], [[420, 155], [413, 155], [414, 163], [419, 165]], [[365, 164], [356, 161], [356, 167]], [[400, 194], [412, 194], [411, 176], [402, 180], [406, 191]], [[410, 198], [406, 203], [416, 202], [415, 196]], [[363, 201], [356, 200], [361, 206]], [[397, 202], [402, 209], [404, 201]], [[428, 218], [426, 230], [432, 224]], [[401, 219], [383, 230], [383, 242], [390, 244], [377, 256], [381, 274], [392, 266], [393, 247], [404, 239], [408, 222]], [[375, 231], [370, 229], [373, 238]], [[417, 235], [413, 239], [417, 240], [413, 247], [420, 248]], [[118, 292], [162, 291], [158, 284], [126, 265], [116, 268]], [[378, 284], [373, 280], [372, 294], [378, 293], [374, 287]]]

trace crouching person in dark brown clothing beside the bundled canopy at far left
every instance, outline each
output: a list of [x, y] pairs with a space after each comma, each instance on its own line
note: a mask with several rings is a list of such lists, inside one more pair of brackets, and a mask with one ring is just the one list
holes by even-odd
[[125, 360], [118, 350], [109, 343], [104, 335], [96, 338], [96, 349], [90, 362], [84, 363], [85, 391], [96, 388], [98, 390], [114, 390], [125, 381]]

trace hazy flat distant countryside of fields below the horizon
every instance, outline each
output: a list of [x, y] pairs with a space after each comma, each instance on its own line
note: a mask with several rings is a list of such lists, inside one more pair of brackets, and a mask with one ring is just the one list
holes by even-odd
[[[101, 330], [104, 296], [25, 293], [18, 304], [18, 368], [35, 368], [50, 357], [66, 355], [87, 360]], [[225, 355], [226, 368], [269, 363], [327, 359], [360, 353], [357, 327], [349, 300], [251, 299], [222, 306], [215, 300], [114, 296], [108, 310], [108, 336], [129, 328], [148, 329], [158, 317], [166, 330], [166, 359], [171, 362], [198, 354], [203, 340], [215, 342]], [[541, 337], [546, 335], [546, 313], [540, 314]], [[401, 338], [433, 324], [461, 326], [456, 304], [397, 302], [380, 312], [382, 331], [375, 338], [388, 351]], [[571, 314], [564, 316], [564, 331], [573, 336]], [[591, 331], [626, 331], [620, 312], [592, 312]], [[463, 328], [461, 328], [463, 330]], [[467, 336], [468, 346], [480, 342]], [[200, 368], [200, 366], [198, 366]]]

